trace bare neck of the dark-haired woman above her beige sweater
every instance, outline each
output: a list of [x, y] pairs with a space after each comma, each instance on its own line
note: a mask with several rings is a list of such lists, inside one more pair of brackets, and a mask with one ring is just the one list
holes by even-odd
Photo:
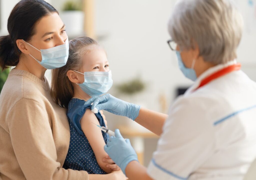
[[14, 69], [28, 71], [42, 81], [44, 80], [44, 75], [46, 71], [46, 68], [42, 67], [35, 59], [26, 57], [24, 55], [20, 55], [19, 63]]

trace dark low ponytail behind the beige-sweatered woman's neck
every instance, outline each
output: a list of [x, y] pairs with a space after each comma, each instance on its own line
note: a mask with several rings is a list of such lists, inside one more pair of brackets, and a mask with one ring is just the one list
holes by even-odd
[[10, 35], [0, 37], [0, 66], [2, 70], [9, 66], [16, 66], [19, 62], [19, 54]]

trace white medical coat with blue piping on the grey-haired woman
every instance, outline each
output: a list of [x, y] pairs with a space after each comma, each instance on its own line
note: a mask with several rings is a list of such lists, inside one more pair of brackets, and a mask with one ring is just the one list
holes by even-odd
[[205, 71], [170, 108], [147, 170], [153, 179], [243, 179], [256, 157], [256, 83], [239, 70], [195, 90], [234, 63]]

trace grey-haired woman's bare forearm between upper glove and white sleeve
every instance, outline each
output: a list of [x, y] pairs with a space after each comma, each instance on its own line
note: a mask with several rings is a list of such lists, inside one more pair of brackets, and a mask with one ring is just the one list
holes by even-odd
[[163, 125], [167, 117], [167, 114], [151, 111], [142, 107], [138, 117], [134, 121], [160, 136], [163, 132]]

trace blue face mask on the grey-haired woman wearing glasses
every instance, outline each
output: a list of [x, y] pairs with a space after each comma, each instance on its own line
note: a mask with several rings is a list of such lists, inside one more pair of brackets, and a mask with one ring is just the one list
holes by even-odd
[[179, 51], [176, 51], [176, 55], [178, 57], [179, 69], [182, 71], [184, 76], [186, 76], [188, 79], [191, 79], [192, 81], [195, 81], [197, 79], [196, 72], [194, 70], [196, 60], [193, 60], [191, 68], [187, 68], [182, 61], [182, 57]]

